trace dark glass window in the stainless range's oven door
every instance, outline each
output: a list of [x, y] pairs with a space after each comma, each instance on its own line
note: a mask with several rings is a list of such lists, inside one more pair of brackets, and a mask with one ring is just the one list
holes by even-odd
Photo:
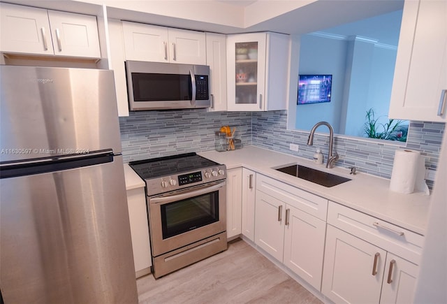
[[219, 222], [219, 191], [161, 205], [163, 240]]

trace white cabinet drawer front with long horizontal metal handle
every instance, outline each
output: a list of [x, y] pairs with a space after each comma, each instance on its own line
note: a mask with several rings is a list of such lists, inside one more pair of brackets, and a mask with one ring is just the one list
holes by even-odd
[[328, 205], [328, 224], [419, 264], [424, 237], [376, 217], [339, 205]]

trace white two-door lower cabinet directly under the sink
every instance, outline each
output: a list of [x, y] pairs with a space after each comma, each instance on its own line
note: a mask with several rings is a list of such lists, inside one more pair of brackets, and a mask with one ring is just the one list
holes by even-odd
[[255, 243], [318, 291], [321, 289], [328, 201], [256, 175]]

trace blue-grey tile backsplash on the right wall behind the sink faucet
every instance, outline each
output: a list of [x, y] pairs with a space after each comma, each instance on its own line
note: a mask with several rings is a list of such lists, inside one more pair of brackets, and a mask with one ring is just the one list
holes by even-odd
[[[314, 145], [307, 145], [309, 132], [287, 130], [286, 111], [258, 112], [253, 114], [253, 145], [265, 147], [278, 152], [294, 154], [312, 159], [317, 147], [325, 158], [328, 155], [328, 129], [320, 126], [314, 137]], [[356, 166], [358, 171], [391, 178], [393, 161], [396, 149], [418, 150], [426, 157], [425, 166], [436, 170], [441, 141], [444, 134], [444, 123], [439, 122], [411, 122], [409, 135], [404, 143], [395, 143], [388, 140], [365, 140], [361, 138], [336, 137], [334, 149], [339, 154], [336, 166]], [[327, 132], [326, 134], [318, 134]], [[299, 146], [298, 152], [289, 150], [290, 143]], [[427, 181], [432, 188], [433, 184]]]

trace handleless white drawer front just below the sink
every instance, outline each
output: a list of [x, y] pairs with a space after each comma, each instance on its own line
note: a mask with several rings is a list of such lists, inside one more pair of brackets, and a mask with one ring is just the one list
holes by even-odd
[[309, 215], [326, 220], [328, 212], [328, 200], [302, 189], [268, 178], [265, 175], [256, 175], [256, 190], [274, 196], [274, 198], [288, 203]]

